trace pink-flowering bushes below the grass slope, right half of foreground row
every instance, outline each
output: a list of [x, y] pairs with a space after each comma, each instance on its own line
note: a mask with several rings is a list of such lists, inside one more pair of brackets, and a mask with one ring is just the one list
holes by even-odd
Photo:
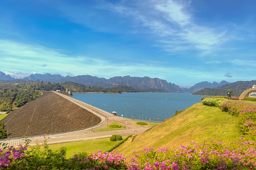
[[191, 142], [178, 149], [144, 148], [131, 158], [128, 169], [255, 169], [256, 145], [243, 138], [236, 143]]

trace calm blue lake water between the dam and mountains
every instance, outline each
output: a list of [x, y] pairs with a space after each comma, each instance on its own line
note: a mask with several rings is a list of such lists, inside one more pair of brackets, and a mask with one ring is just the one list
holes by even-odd
[[[181, 111], [201, 102], [201, 97], [178, 93], [122, 93], [122, 94], [73, 94], [73, 98], [92, 104], [107, 112], [117, 112], [118, 116], [139, 120], [162, 122]], [[128, 106], [128, 107], [127, 107]], [[126, 112], [127, 107], [127, 114]]]

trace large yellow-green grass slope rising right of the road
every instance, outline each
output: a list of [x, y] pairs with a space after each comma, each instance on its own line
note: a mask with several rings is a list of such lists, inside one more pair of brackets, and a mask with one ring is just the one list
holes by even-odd
[[188, 145], [191, 140], [202, 143], [203, 140], [234, 141], [240, 137], [236, 118], [218, 107], [197, 103], [169, 120], [154, 126], [117, 148], [126, 157], [132, 157], [133, 151], [145, 147], [177, 148]]

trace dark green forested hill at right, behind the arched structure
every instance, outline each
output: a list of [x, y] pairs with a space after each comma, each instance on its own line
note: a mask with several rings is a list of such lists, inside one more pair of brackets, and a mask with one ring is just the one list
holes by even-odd
[[252, 86], [255, 84], [256, 84], [256, 80], [237, 81], [237, 82], [229, 83], [214, 89], [205, 88], [197, 92], [194, 92], [192, 95], [226, 96], [227, 90], [232, 89], [234, 91], [234, 96], [240, 96], [244, 90], [252, 88]]

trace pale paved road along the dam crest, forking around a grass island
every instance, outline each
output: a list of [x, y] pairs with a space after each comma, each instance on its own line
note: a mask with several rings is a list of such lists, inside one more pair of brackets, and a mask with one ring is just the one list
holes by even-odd
[[[67, 133], [59, 133], [59, 134], [50, 134], [48, 139], [48, 143], [51, 144], [56, 144], [56, 143], [67, 143], [67, 142], [76, 142], [76, 141], [85, 141], [85, 140], [93, 140], [93, 139], [101, 139], [101, 138], [109, 138], [111, 137], [112, 134], [120, 134], [120, 135], [134, 135], [134, 134], [140, 134], [148, 130], [149, 128], [146, 127], [140, 127], [136, 126], [134, 124], [131, 124], [129, 122], [124, 121], [124, 118], [119, 117], [119, 116], [114, 116], [113, 114], [110, 114], [106, 111], [103, 111], [97, 107], [88, 105], [86, 103], [83, 103], [82, 101], [76, 100], [74, 98], [68, 97], [66, 95], [62, 95], [58, 92], [55, 92], [55, 94], [58, 94], [69, 101], [77, 104], [78, 106], [81, 106], [88, 111], [92, 112], [93, 114], [98, 115], [101, 118], [101, 122], [98, 125], [93, 126], [92, 128], [87, 128], [84, 130], [79, 130], [79, 131], [73, 131], [73, 132], [67, 132]], [[126, 129], [124, 130], [117, 130], [117, 131], [105, 131], [105, 132], [92, 132], [92, 130], [97, 130], [103, 127], [108, 126], [111, 124], [111, 122], [116, 121], [120, 124], [123, 124], [126, 126]], [[136, 131], [136, 132], [135, 132]], [[31, 146], [35, 145], [35, 141], [43, 141], [44, 137], [42, 136], [37, 136], [37, 137], [31, 137], [29, 138], [31, 140]], [[7, 141], [0, 141], [0, 142], [8, 142], [8, 143], [13, 143], [12, 146], [16, 146], [19, 143], [24, 145], [25, 141], [22, 139], [10, 139]]]

